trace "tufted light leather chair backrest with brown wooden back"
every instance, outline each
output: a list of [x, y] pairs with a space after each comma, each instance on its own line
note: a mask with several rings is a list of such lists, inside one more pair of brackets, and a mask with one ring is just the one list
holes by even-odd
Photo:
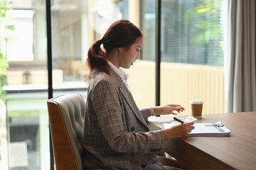
[[50, 98], [47, 105], [56, 169], [82, 170], [84, 98], [65, 94]]

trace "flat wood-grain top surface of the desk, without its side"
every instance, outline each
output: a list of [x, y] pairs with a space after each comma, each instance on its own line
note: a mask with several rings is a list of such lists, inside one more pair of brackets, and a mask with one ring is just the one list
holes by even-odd
[[[191, 150], [200, 149], [204, 154], [234, 169], [254, 168], [256, 166], [256, 112], [203, 115], [196, 123], [215, 123], [218, 120], [230, 129], [230, 137], [185, 137], [180, 140], [189, 144], [186, 146], [193, 147]], [[154, 125], [163, 128], [161, 123], [154, 123]]]

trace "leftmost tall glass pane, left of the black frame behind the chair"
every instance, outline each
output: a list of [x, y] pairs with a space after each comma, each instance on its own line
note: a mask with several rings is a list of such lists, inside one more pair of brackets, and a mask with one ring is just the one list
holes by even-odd
[[1, 52], [9, 62], [3, 86], [8, 154], [1, 161], [3, 169], [49, 169], [46, 4], [9, 2], [1, 3], [9, 10], [0, 21]]

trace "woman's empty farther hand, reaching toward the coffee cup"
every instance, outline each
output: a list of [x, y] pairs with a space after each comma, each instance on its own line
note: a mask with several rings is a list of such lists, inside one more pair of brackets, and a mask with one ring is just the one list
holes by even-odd
[[184, 110], [185, 108], [175, 104], [169, 104], [164, 106], [154, 106], [154, 113], [156, 115], [169, 115], [169, 114], [176, 115], [177, 113], [175, 113], [174, 111], [177, 111], [178, 113], [180, 113]]

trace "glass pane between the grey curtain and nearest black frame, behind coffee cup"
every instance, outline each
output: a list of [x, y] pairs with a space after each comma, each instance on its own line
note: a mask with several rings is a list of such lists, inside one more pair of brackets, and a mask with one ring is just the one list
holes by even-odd
[[203, 114], [225, 113], [223, 0], [162, 1], [161, 103], [202, 99]]

